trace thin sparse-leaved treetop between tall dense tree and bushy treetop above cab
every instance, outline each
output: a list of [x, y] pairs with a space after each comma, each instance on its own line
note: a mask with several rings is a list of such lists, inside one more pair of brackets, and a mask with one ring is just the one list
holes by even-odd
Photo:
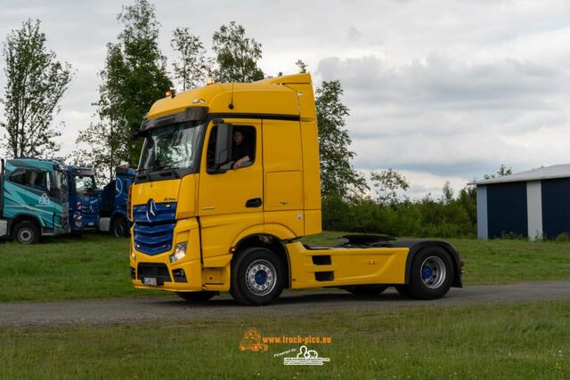
[[183, 91], [204, 85], [213, 62], [206, 57], [199, 37], [192, 35], [189, 28], [175, 28], [170, 45], [179, 54], [179, 61], [173, 66]]

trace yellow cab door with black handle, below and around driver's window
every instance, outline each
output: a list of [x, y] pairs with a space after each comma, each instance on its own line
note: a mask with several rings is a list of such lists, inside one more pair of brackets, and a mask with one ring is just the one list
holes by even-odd
[[198, 214], [201, 228], [202, 256], [229, 254], [233, 240], [241, 231], [253, 226], [263, 229], [264, 191], [262, 131], [259, 120], [224, 119], [233, 125], [233, 131], [244, 133], [251, 144], [253, 158], [247, 165], [224, 173], [208, 173], [212, 168], [216, 125], [210, 122], [199, 175]]

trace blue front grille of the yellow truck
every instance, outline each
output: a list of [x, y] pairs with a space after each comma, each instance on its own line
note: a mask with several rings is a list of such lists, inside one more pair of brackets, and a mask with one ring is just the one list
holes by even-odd
[[175, 231], [175, 203], [157, 203], [149, 214], [147, 205], [133, 207], [134, 247], [146, 255], [159, 255], [172, 248]]

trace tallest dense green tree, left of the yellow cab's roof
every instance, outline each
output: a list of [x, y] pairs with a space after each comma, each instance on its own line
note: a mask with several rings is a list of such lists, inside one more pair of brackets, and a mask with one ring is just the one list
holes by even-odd
[[129, 135], [140, 128], [152, 103], [172, 88], [166, 58], [159, 49], [160, 24], [154, 7], [146, 0], [137, 0], [124, 6], [117, 19], [124, 28], [118, 42], [107, 45], [96, 103], [98, 121], [77, 139], [97, 150], [94, 165], [100, 170], [104, 167], [111, 175], [119, 163], [138, 165], [141, 142], [130, 141]]

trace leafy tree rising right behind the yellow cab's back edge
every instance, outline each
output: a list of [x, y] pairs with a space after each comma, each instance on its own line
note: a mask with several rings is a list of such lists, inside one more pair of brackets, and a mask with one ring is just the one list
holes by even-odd
[[355, 154], [349, 150], [351, 140], [345, 127], [348, 108], [340, 101], [342, 94], [338, 80], [322, 82], [315, 92], [323, 197], [354, 197], [368, 189], [365, 179], [350, 165]]

